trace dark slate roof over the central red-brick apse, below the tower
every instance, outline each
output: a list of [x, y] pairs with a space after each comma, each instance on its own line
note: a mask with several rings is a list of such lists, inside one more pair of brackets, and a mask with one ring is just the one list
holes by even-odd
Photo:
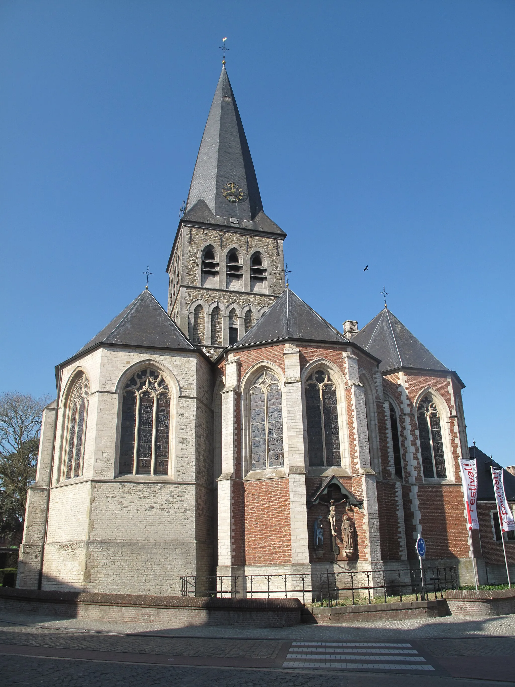
[[347, 346], [350, 343], [299, 296], [286, 289], [247, 334], [229, 346], [229, 350], [285, 340], [345, 343]]

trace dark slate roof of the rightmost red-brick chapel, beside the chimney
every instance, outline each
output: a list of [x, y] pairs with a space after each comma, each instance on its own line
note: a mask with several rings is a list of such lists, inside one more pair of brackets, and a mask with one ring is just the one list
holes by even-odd
[[398, 368], [448, 370], [388, 308], [365, 324], [352, 342], [380, 358], [381, 372]]

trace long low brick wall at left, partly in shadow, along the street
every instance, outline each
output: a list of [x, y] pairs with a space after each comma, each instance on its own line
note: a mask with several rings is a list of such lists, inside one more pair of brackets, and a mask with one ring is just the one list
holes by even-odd
[[290, 627], [301, 622], [298, 599], [220, 599], [198, 596], [146, 596], [42, 592], [0, 588], [0, 611], [62, 618], [188, 625]]

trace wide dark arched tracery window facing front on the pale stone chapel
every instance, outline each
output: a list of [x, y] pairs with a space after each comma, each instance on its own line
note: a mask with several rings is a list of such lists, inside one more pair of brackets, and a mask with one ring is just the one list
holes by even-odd
[[140, 370], [122, 397], [120, 475], [168, 475], [170, 390], [161, 372]]

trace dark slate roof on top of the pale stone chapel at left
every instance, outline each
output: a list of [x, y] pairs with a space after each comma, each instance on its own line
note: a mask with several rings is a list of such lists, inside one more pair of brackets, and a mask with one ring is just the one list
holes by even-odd
[[147, 289], [88, 341], [76, 355], [100, 343], [196, 350]]

